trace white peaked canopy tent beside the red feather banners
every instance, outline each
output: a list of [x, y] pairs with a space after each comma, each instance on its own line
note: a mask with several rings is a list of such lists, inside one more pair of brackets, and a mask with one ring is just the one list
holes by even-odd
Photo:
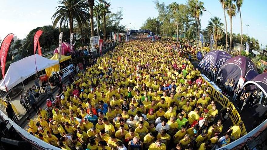
[[[35, 57], [38, 71], [52, 67], [59, 63], [57, 60], [50, 60], [38, 54], [35, 54]], [[11, 88], [24, 81], [26, 78], [29, 78], [31, 75], [34, 75], [36, 73], [36, 66], [34, 55], [25, 57], [17, 62], [11, 63], [7, 72], [5, 73], [5, 84], [3, 80], [0, 82], [0, 89], [6, 91], [6, 85], [7, 90], [10, 90]]]

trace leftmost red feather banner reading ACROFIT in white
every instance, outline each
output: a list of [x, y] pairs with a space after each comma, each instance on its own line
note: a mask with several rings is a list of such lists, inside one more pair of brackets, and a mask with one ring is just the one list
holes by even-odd
[[6, 56], [8, 54], [8, 49], [9, 49], [9, 46], [10, 46], [10, 42], [12, 41], [13, 37], [14, 37], [14, 34], [12, 34], [12, 33], [8, 34], [4, 38], [4, 40], [2, 42], [2, 45], [1, 45], [0, 60], [1, 60], [1, 68], [2, 68], [2, 76], [3, 76], [3, 78], [5, 77], [5, 61], [6, 61]]

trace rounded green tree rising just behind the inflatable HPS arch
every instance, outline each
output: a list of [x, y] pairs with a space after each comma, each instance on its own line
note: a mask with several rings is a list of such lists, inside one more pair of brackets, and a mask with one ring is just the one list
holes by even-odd
[[157, 34], [161, 28], [161, 23], [157, 20], [157, 18], [147, 18], [147, 20], [143, 23], [141, 29], [149, 29], [154, 34]]

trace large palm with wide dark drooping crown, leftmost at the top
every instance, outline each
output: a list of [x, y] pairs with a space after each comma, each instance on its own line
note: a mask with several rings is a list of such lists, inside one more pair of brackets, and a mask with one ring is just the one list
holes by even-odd
[[79, 26], [86, 24], [90, 19], [88, 12], [89, 5], [85, 0], [59, 0], [61, 6], [56, 7], [57, 10], [52, 16], [53, 27], [59, 24], [61, 27], [64, 24], [69, 24], [69, 34], [73, 33], [73, 22], [77, 21]]

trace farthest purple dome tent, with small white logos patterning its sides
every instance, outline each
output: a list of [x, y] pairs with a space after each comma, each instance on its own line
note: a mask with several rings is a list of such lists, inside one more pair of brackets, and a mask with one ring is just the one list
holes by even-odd
[[214, 50], [204, 56], [198, 67], [204, 69], [205, 71], [208, 71], [212, 64], [213, 67], [216, 67], [219, 70], [222, 65], [224, 65], [224, 63], [230, 58], [232, 58], [232, 56], [227, 52]]

